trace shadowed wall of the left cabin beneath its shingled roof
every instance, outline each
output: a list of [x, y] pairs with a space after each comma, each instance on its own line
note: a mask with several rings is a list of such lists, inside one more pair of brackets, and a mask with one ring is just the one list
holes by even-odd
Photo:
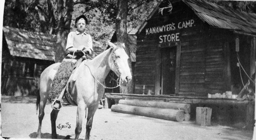
[[2, 95], [34, 96], [39, 90], [42, 71], [51, 65], [53, 61], [18, 57], [5, 60], [2, 63]]

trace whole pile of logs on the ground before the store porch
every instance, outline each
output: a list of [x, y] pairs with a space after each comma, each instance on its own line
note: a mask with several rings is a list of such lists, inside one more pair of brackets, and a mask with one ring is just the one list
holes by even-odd
[[190, 119], [190, 104], [184, 103], [119, 100], [119, 104], [112, 105], [111, 111], [177, 122]]

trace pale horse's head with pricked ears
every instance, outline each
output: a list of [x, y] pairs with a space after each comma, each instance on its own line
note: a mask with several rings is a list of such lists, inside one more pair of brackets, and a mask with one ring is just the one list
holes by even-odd
[[109, 57], [109, 65], [111, 70], [120, 78], [122, 84], [126, 85], [132, 79], [131, 70], [128, 64], [128, 55], [125, 52], [124, 43], [113, 44], [108, 41], [112, 49], [112, 54]]

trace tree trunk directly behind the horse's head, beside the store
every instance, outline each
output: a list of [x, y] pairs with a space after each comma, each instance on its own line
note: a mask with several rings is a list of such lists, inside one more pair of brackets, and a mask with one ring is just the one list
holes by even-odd
[[[130, 48], [128, 43], [128, 34], [127, 34], [127, 9], [128, 9], [128, 2], [126, 0], [118, 0], [117, 2], [117, 16], [116, 16], [116, 36], [117, 42], [123, 42], [126, 46], [126, 53], [130, 56]], [[128, 60], [129, 67], [132, 68], [131, 59]], [[131, 71], [132, 73], [132, 71]], [[132, 74], [133, 75], [133, 74]], [[133, 92], [133, 80], [127, 84], [126, 87], [120, 87], [120, 91], [122, 94], [132, 94]]]

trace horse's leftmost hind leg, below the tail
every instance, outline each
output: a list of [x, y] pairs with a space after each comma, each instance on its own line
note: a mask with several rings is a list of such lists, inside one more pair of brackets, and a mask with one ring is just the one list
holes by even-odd
[[46, 106], [47, 98], [48, 96], [42, 96], [42, 97], [40, 96], [39, 115], [38, 115], [39, 124], [38, 124], [36, 138], [41, 138], [41, 125], [42, 125], [42, 119], [44, 119], [44, 116], [45, 116], [45, 106]]

